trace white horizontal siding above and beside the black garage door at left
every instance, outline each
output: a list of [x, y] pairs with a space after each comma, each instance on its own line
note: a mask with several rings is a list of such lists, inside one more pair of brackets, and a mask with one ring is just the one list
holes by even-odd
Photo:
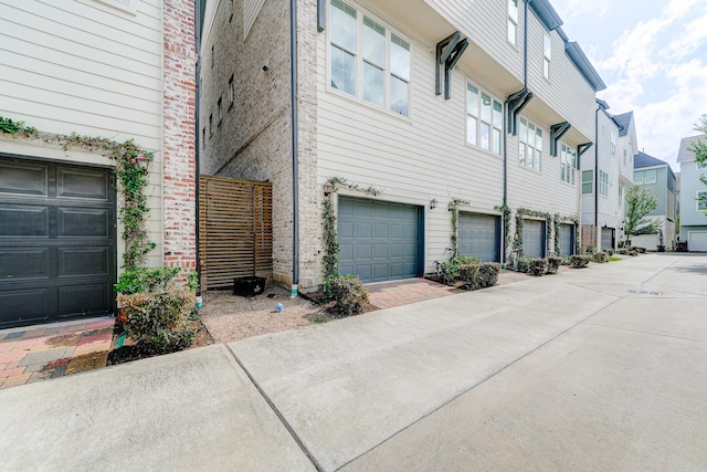
[[[156, 150], [148, 190], [150, 238], [161, 264], [161, 2], [135, 13], [109, 1], [0, 0], [0, 115], [41, 132], [135, 139]], [[104, 164], [81, 150], [42, 143], [1, 143], [8, 153]], [[122, 250], [122, 244], [118, 244]]]

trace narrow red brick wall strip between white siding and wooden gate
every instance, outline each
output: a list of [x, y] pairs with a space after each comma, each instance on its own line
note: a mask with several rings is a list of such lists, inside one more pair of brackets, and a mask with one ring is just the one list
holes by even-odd
[[194, 2], [163, 2], [165, 266], [197, 264]]

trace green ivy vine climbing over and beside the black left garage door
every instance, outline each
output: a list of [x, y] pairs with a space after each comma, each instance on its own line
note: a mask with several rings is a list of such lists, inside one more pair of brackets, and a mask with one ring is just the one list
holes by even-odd
[[117, 188], [123, 197], [118, 214], [124, 228], [123, 268], [130, 271], [145, 263], [145, 256], [155, 249], [156, 244], [150, 241], [147, 232], [149, 207], [145, 189], [149, 180], [149, 170], [147, 166], [140, 166], [140, 160], [151, 161], [155, 157], [152, 151], [140, 148], [133, 139], [118, 143], [102, 137], [81, 136], [76, 133], [72, 133], [71, 136], [40, 133], [34, 127], [24, 126], [23, 122], [13, 122], [2, 116], [0, 116], [0, 130], [3, 134], [40, 138], [46, 143], [59, 144], [64, 150], [70, 147], [98, 150], [103, 156], [114, 160]]

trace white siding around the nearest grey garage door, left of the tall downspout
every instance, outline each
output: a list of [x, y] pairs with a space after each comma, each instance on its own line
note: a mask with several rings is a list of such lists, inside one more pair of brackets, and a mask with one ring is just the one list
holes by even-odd
[[[435, 260], [450, 256], [445, 251], [451, 235], [450, 200], [469, 201], [464, 211], [498, 214], [494, 207], [503, 202], [503, 158], [466, 145], [466, 71], [455, 70], [451, 99], [435, 95], [434, 44], [415, 41], [408, 31], [393, 31], [411, 41], [410, 118], [331, 90], [325, 78], [328, 35], [319, 34], [318, 179], [324, 183], [330, 177], [344, 177], [382, 189], [380, 200], [425, 207], [425, 272], [430, 272]], [[490, 84], [477, 85], [503, 102], [503, 94]], [[430, 210], [434, 198], [439, 207]]]

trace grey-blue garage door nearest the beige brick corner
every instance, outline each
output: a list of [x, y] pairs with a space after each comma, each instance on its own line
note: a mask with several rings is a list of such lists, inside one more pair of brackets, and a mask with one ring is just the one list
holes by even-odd
[[422, 275], [422, 208], [340, 197], [339, 272], [363, 282]]

